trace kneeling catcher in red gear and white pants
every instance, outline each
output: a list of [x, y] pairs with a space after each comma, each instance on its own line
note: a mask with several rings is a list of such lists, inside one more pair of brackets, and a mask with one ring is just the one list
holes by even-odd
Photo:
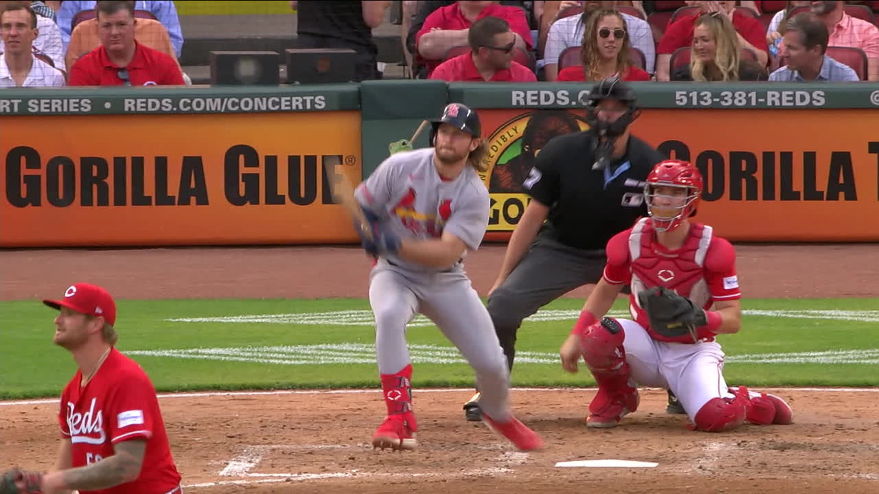
[[[741, 327], [741, 294], [732, 245], [689, 220], [701, 192], [701, 174], [692, 164], [658, 163], [644, 185], [650, 216], [607, 243], [602, 279], [561, 349], [564, 370], [576, 373], [582, 356], [598, 381], [586, 418], [590, 427], [614, 427], [637, 410], [637, 385], [671, 389], [691, 430], [793, 421], [780, 397], [728, 388], [723, 379], [724, 355], [715, 338]], [[626, 283], [634, 320], [602, 317]]]

